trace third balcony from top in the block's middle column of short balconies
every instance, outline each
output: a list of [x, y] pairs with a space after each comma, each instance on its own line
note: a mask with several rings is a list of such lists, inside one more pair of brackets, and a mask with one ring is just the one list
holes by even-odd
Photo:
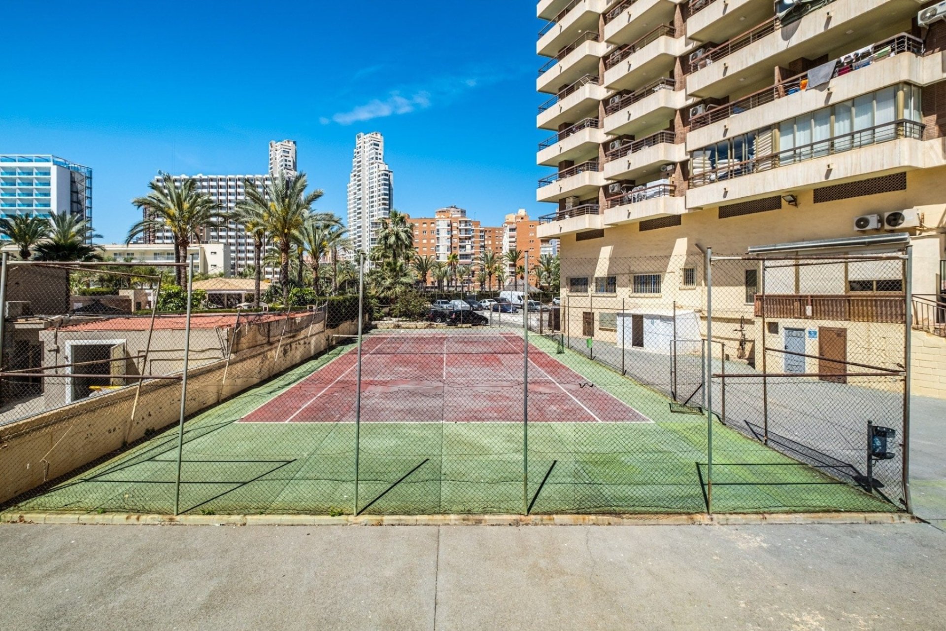
[[604, 107], [604, 133], [636, 135], [655, 120], [670, 120], [686, 106], [687, 95], [674, 90], [674, 79], [661, 78], [638, 91], [611, 96]]

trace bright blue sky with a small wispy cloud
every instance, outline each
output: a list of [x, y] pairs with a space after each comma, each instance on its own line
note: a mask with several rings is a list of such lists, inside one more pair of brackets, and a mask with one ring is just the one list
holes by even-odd
[[4, 2], [0, 37], [23, 55], [0, 81], [0, 153], [93, 167], [106, 242], [159, 169], [261, 173], [284, 138], [319, 209], [344, 216], [359, 131], [384, 134], [394, 206], [414, 217], [549, 212], [534, 202], [541, 25], [533, 0], [507, 3]]

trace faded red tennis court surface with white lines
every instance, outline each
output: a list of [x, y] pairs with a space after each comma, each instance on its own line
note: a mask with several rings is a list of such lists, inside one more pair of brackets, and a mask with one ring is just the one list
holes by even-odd
[[[370, 336], [362, 345], [362, 423], [522, 421], [522, 338]], [[352, 423], [357, 349], [277, 394], [244, 423]], [[650, 422], [529, 345], [529, 421]]]

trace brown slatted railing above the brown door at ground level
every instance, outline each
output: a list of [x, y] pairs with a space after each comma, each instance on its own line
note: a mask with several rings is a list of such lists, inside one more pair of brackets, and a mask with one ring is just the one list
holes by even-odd
[[769, 294], [756, 295], [757, 318], [781, 320], [837, 320], [903, 324], [906, 301], [902, 293], [867, 294]]

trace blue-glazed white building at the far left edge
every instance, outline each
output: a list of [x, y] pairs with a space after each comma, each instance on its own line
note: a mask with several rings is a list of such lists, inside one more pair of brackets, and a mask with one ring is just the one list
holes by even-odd
[[0, 215], [51, 213], [92, 223], [92, 169], [54, 155], [0, 155]]

